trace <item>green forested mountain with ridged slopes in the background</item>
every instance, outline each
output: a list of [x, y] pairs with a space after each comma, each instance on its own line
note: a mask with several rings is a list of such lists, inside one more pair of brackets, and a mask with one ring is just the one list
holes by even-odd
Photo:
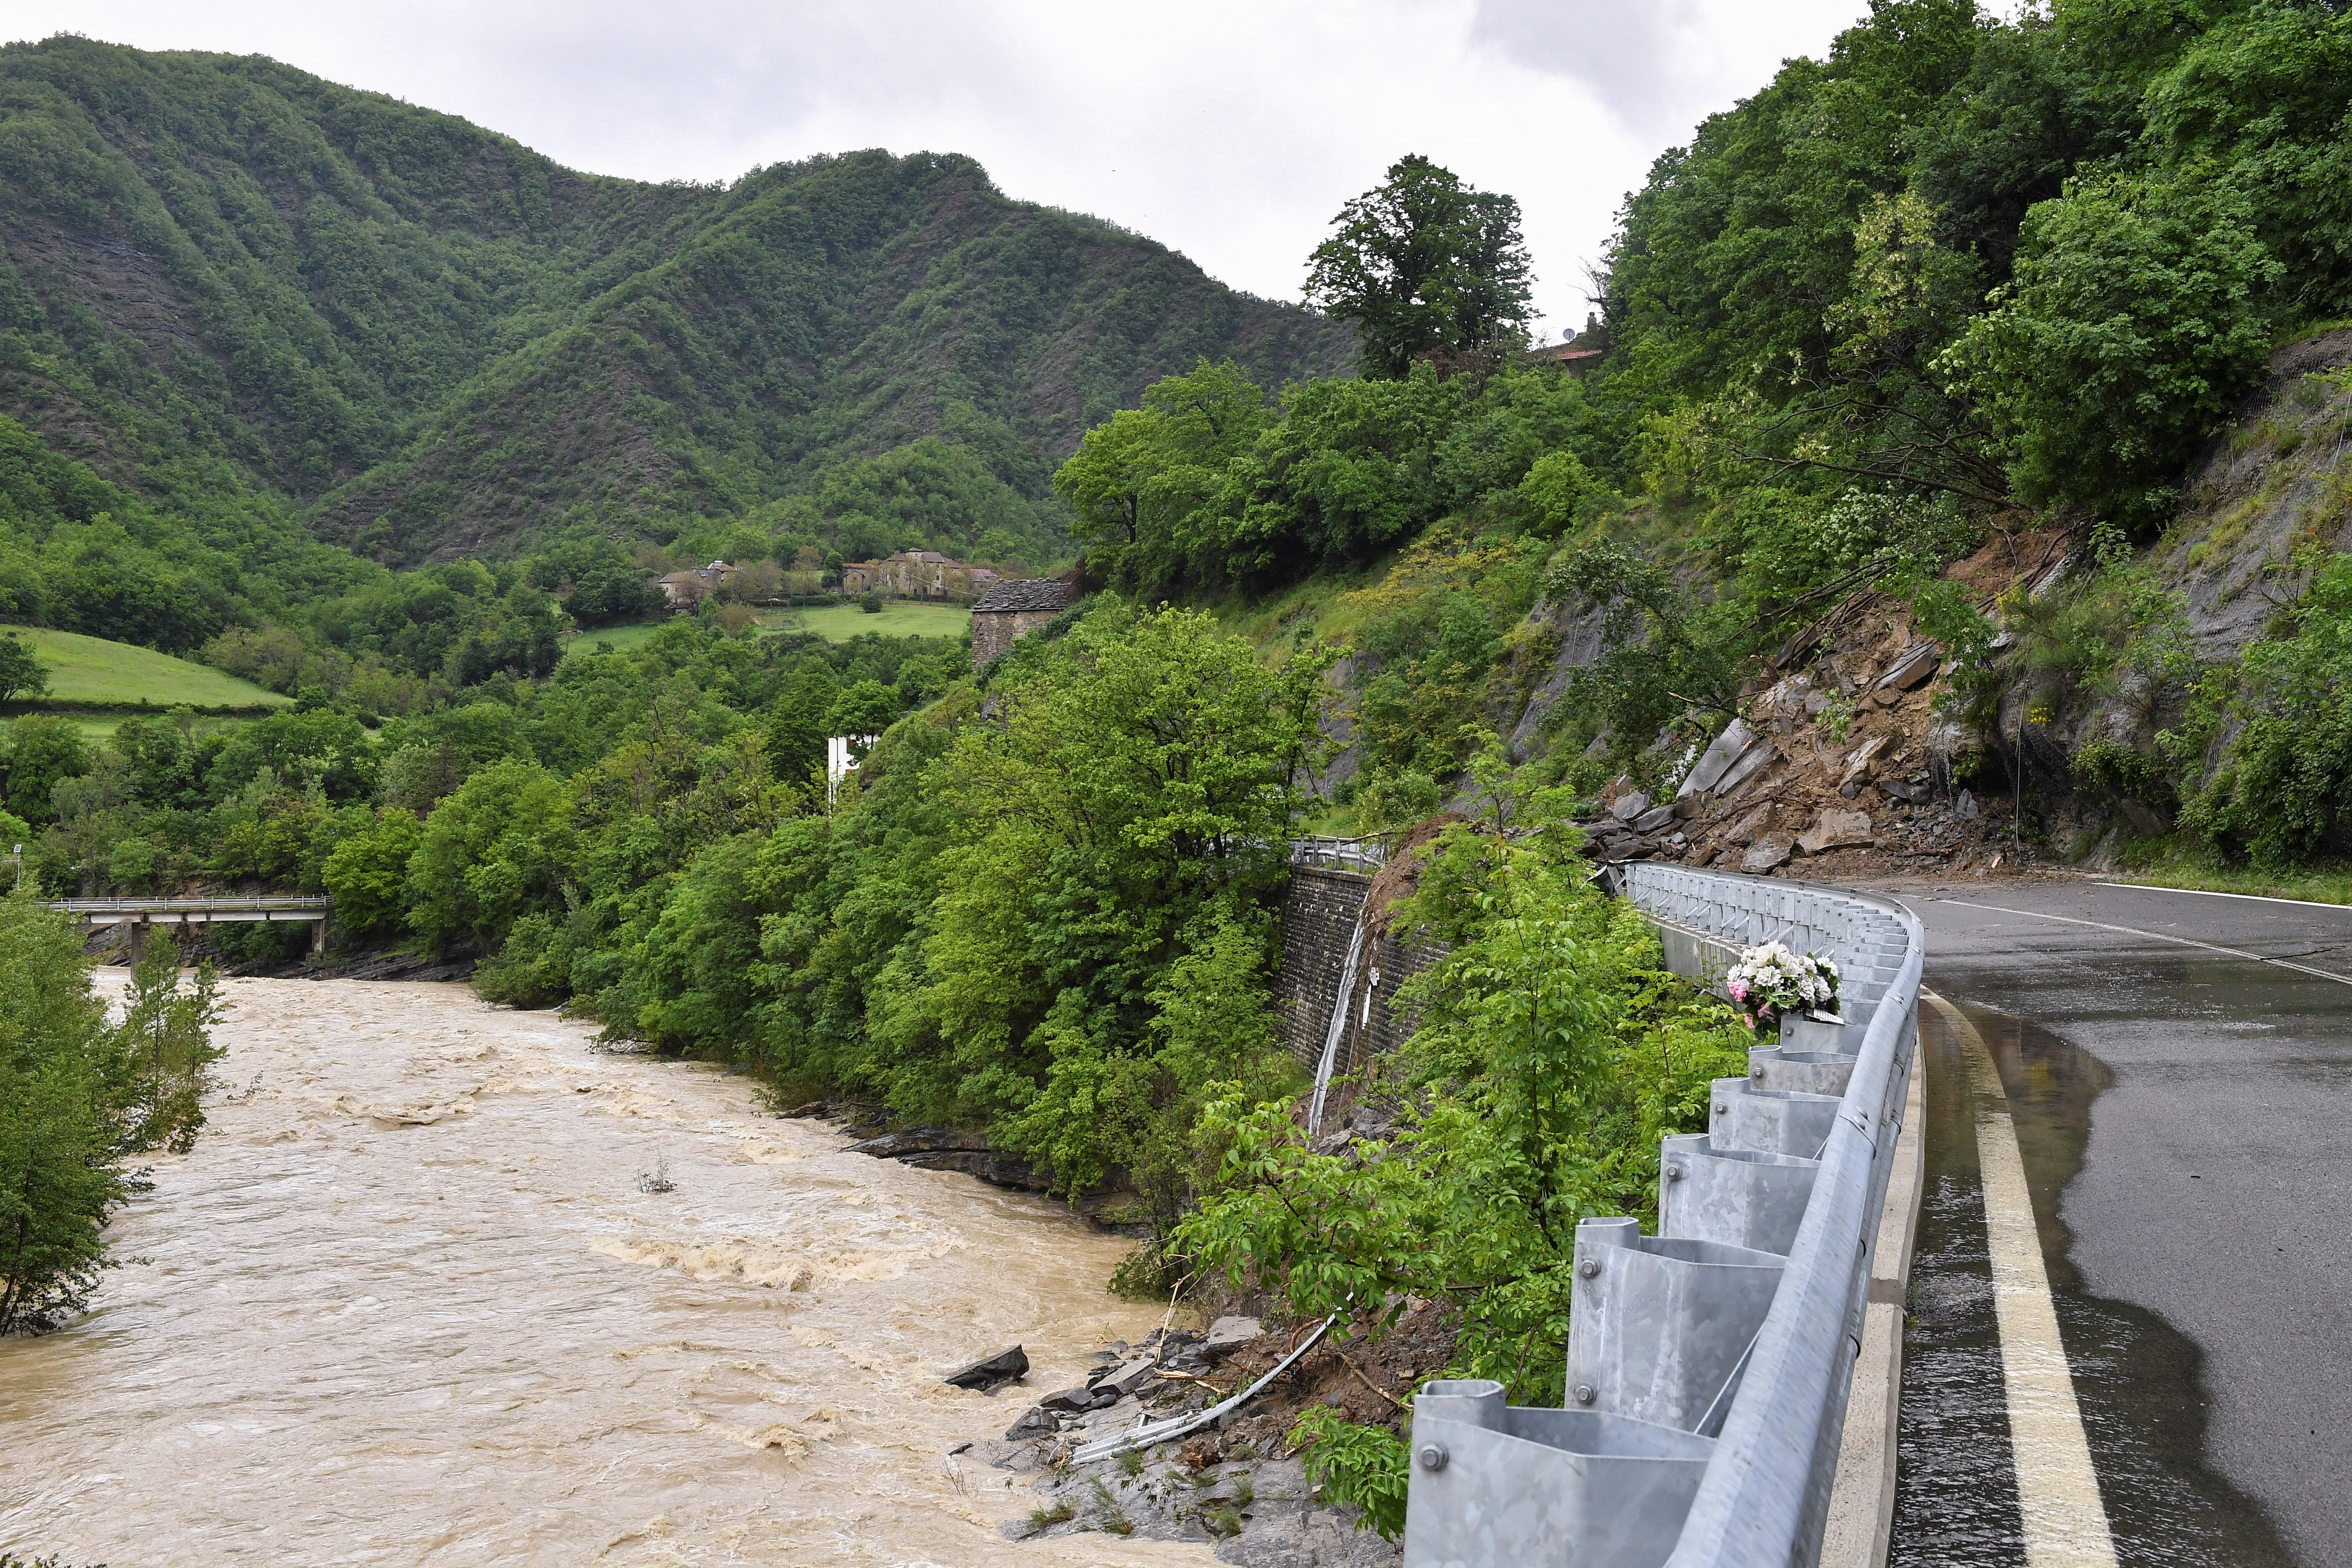
[[858, 548], [941, 538], [873, 489], [969, 491], [1037, 552], [1054, 465], [1157, 376], [1355, 353], [969, 158], [647, 186], [266, 59], [80, 38], [0, 49], [0, 414], [390, 564], [790, 496], [875, 524]]

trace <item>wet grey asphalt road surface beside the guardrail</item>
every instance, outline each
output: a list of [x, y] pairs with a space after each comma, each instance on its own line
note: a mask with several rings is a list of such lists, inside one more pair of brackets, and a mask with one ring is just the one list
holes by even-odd
[[[2117, 1559], [2352, 1563], [2352, 985], [2328, 978], [2352, 980], [2352, 910], [2074, 879], [1886, 891], [2002, 1067]], [[1893, 1561], [2016, 1563], [1947, 1034], [1922, 1030]]]

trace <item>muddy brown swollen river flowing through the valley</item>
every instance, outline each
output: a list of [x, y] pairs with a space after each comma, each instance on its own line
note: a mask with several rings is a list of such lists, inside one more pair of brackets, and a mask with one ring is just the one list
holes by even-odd
[[[101, 980], [120, 985], [120, 971]], [[1160, 1312], [1124, 1241], [840, 1154], [722, 1072], [456, 985], [230, 980], [193, 1154], [0, 1342], [0, 1547], [113, 1563], [1209, 1563], [964, 1441]], [[249, 1093], [247, 1093], [249, 1091]], [[666, 1161], [670, 1192], [642, 1192]], [[1023, 1342], [1030, 1394], [941, 1385]]]

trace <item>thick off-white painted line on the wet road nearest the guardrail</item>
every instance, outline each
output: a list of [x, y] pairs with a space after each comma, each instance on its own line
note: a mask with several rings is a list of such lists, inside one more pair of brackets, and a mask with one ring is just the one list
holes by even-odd
[[2009, 1385], [2009, 1448], [2018, 1467], [2018, 1514], [2027, 1568], [2114, 1568], [2107, 1509], [2098, 1497], [2091, 1439], [2074, 1403], [2074, 1375], [2058, 1338], [2058, 1307], [2042, 1267], [2025, 1157], [2009, 1119], [2002, 1072], [1976, 1027], [1943, 1009], [1969, 1058], [1976, 1091], [1976, 1159], [1992, 1253], [1992, 1307], [2002, 1326], [2002, 1380]]

